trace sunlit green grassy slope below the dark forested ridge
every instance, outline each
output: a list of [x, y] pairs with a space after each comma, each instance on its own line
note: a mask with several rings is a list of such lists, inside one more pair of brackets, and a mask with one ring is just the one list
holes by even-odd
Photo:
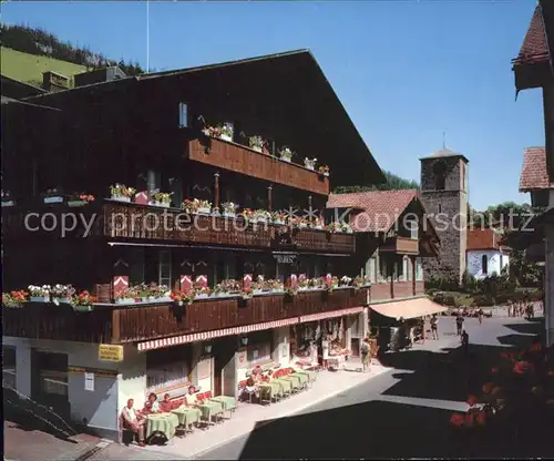
[[42, 72], [53, 71], [66, 76], [73, 76], [76, 73], [86, 71], [84, 65], [48, 57], [22, 53], [10, 48], [2, 47], [0, 51], [2, 74], [35, 86], [42, 85]]

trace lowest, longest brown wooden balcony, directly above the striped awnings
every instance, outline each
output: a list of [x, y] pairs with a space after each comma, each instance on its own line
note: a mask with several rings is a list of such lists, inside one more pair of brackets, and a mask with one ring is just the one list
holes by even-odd
[[281, 320], [318, 313], [366, 306], [369, 288], [305, 291], [252, 299], [207, 298], [177, 314], [173, 305], [105, 306], [91, 313], [74, 313], [61, 306], [29, 303], [4, 308], [6, 336], [85, 342], [124, 344], [182, 334], [209, 331]]

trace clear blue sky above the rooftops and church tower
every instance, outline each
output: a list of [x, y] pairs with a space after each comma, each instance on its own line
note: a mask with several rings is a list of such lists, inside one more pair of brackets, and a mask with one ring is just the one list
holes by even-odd
[[[510, 63], [534, 6], [151, 2], [150, 66], [309, 48], [383, 170], [419, 181], [419, 158], [439, 150], [447, 131], [447, 145], [470, 160], [470, 203], [483, 209], [527, 202], [517, 191], [523, 148], [544, 145], [542, 93], [525, 91], [515, 102]], [[146, 66], [144, 2], [11, 2], [2, 22]]]

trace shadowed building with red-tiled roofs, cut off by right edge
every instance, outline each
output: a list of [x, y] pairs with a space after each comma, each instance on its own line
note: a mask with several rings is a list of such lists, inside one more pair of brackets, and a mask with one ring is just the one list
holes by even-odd
[[[544, 171], [540, 172], [541, 184], [523, 184], [525, 176], [533, 173], [527, 165], [522, 173], [522, 192], [531, 192], [533, 205], [542, 206], [547, 211], [534, 221], [536, 233], [530, 238], [529, 232], [513, 236], [511, 245], [530, 246], [545, 245], [545, 277], [544, 277], [544, 318], [546, 327], [546, 344], [554, 344], [554, 219], [552, 207], [554, 206], [554, 195], [550, 192], [551, 184], [554, 183], [554, 3], [552, 0], [540, 0], [531, 19], [531, 23], [525, 34], [520, 53], [513, 60], [513, 71], [515, 76], [516, 91], [542, 89], [544, 102], [544, 127], [545, 148], [544, 151], [525, 152], [525, 161], [544, 165]], [[543, 155], [544, 152], [544, 155]], [[529, 156], [529, 158], [527, 158]], [[531, 157], [535, 158], [532, 160]], [[525, 171], [526, 170], [526, 171]], [[544, 176], [543, 176], [544, 174]], [[535, 178], [538, 178], [535, 176]], [[527, 226], [529, 227], [529, 226]], [[520, 237], [520, 238], [516, 238]], [[519, 242], [516, 242], [519, 240]], [[533, 252], [536, 254], [536, 252]]]

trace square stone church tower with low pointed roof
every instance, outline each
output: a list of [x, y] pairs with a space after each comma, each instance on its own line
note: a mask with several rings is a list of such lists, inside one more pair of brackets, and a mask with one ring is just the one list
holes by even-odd
[[444, 147], [420, 162], [421, 199], [441, 240], [438, 258], [424, 259], [425, 278], [461, 281], [468, 247], [469, 161]]

